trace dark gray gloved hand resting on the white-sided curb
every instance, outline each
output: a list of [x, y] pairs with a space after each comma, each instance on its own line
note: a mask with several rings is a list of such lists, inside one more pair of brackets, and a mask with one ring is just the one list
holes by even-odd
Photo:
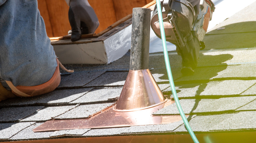
[[87, 0], [70, 0], [68, 15], [72, 28], [71, 41], [79, 40], [81, 34], [94, 33], [99, 26], [95, 11]]

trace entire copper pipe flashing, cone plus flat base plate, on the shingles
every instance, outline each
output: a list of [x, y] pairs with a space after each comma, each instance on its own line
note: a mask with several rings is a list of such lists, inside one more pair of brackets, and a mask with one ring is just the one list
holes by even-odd
[[172, 103], [174, 101], [164, 98], [149, 69], [130, 70], [116, 105], [89, 119], [47, 121], [33, 131], [129, 127], [180, 121], [180, 115], [152, 115]]

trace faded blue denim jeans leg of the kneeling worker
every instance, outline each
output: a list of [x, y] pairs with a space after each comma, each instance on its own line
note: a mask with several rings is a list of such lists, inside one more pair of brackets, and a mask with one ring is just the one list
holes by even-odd
[[56, 66], [37, 0], [0, 0], [0, 81], [40, 85], [51, 79]]

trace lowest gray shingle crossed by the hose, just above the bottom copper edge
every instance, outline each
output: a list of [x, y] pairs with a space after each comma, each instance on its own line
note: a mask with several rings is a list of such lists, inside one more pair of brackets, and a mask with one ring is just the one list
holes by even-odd
[[[213, 131], [238, 131], [256, 128], [256, 111], [245, 111], [232, 114], [196, 116], [189, 121], [194, 132]], [[187, 132], [184, 125], [174, 130], [174, 132]]]

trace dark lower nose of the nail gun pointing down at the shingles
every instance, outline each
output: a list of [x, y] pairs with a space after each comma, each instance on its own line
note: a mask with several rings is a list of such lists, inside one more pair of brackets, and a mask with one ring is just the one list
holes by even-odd
[[177, 53], [182, 57], [181, 73], [190, 75], [194, 73], [199, 60], [200, 42], [195, 31], [191, 31], [186, 36], [186, 44], [184, 47], [177, 46]]

